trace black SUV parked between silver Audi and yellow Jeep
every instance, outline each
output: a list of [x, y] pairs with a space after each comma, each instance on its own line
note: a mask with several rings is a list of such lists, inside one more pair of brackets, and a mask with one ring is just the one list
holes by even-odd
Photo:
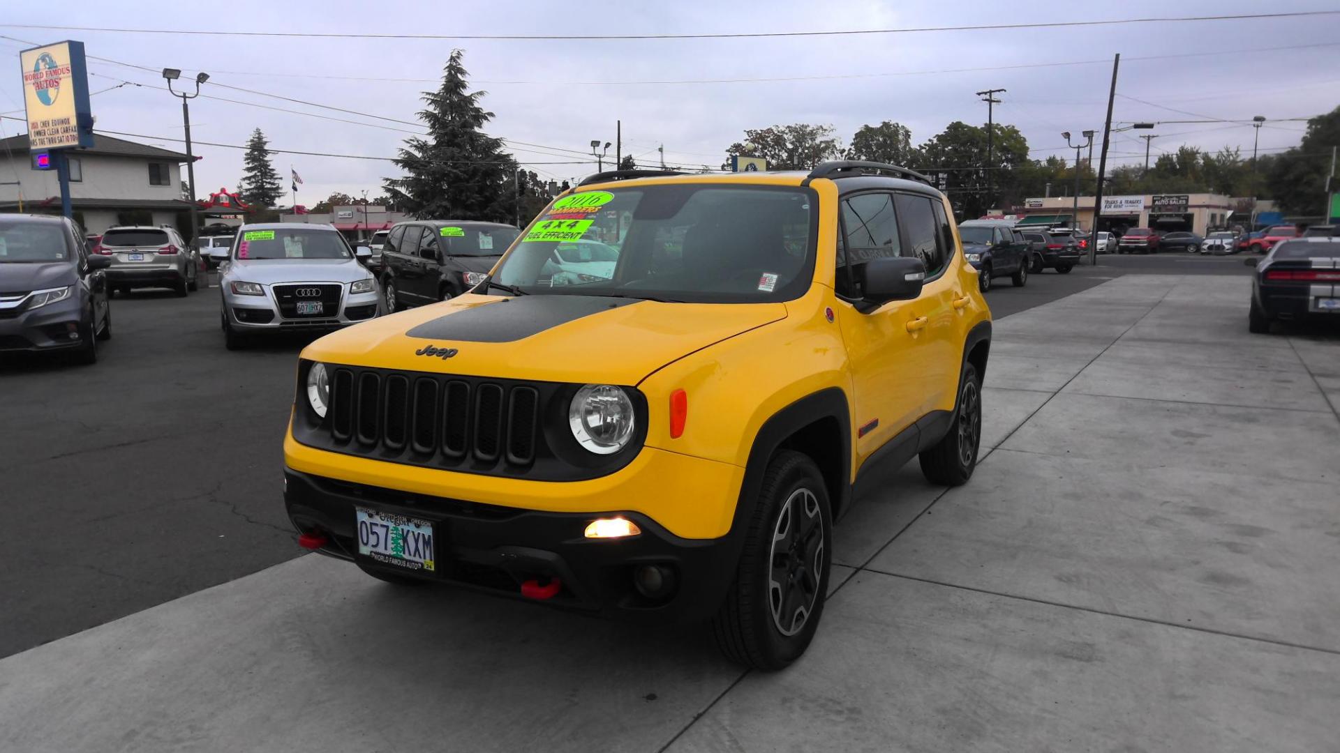
[[386, 312], [458, 296], [484, 279], [520, 233], [497, 222], [397, 222], [382, 247]]

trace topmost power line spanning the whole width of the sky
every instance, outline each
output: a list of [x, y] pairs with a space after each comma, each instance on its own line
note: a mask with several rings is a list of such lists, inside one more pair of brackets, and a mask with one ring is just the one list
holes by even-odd
[[216, 29], [161, 29], [161, 28], [99, 28], [55, 24], [0, 24], [5, 28], [40, 28], [55, 31], [94, 31], [113, 33], [155, 33], [155, 35], [196, 35], [196, 36], [265, 36], [265, 38], [306, 38], [306, 39], [466, 39], [466, 40], [531, 40], [531, 42], [560, 42], [560, 40], [646, 40], [646, 39], [764, 39], [764, 38], [793, 38], [793, 36], [863, 36], [884, 33], [925, 33], [945, 31], [1000, 31], [1021, 28], [1075, 28], [1075, 27], [1103, 27], [1122, 24], [1164, 24], [1164, 23], [1198, 23], [1198, 21], [1240, 21], [1261, 19], [1296, 19], [1312, 16], [1340, 15], [1340, 11], [1297, 11], [1286, 13], [1238, 13], [1225, 16], [1163, 16], [1163, 17], [1135, 17], [1135, 19], [1108, 19], [1093, 21], [1038, 21], [1016, 24], [973, 24], [957, 27], [906, 27], [880, 29], [842, 29], [842, 31], [775, 31], [775, 32], [730, 32], [730, 33], [351, 33], [351, 32], [293, 32], [293, 31], [216, 31]]

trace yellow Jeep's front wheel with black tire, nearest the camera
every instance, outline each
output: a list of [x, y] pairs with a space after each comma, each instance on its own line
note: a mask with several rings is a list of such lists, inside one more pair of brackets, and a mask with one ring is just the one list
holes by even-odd
[[[779, 537], [779, 531], [785, 533]], [[776, 551], [779, 544], [785, 549]], [[764, 472], [740, 564], [712, 620], [721, 653], [764, 671], [796, 661], [823, 616], [831, 565], [832, 515], [824, 477], [808, 456], [780, 450]], [[783, 583], [779, 571], [785, 571]], [[789, 634], [777, 612], [789, 612]]]

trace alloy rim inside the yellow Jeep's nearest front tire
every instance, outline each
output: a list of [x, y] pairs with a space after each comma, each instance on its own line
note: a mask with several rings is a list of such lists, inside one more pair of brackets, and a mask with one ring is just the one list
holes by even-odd
[[769, 552], [768, 607], [783, 635], [800, 632], [819, 599], [824, 563], [824, 517], [819, 498], [801, 486], [777, 515]]

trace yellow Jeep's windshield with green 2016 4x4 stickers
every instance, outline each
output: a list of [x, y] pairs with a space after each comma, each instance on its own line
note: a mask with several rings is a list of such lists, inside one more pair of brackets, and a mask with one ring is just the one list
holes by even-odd
[[[816, 209], [813, 190], [803, 188], [663, 185], [575, 193], [531, 225], [496, 280], [528, 293], [791, 300], [812, 277]], [[560, 267], [555, 252], [587, 247], [608, 261]]]

